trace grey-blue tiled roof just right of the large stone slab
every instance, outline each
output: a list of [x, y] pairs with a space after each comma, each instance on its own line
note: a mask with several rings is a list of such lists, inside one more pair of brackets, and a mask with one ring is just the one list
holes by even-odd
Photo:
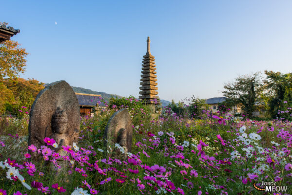
[[[101, 95], [99, 94], [82, 94], [75, 93], [80, 106], [91, 106], [95, 107], [101, 101]], [[102, 103], [99, 106], [103, 106]]]

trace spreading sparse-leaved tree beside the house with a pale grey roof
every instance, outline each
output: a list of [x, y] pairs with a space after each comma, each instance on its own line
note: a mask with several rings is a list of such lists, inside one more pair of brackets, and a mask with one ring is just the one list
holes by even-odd
[[244, 113], [249, 117], [255, 110], [255, 104], [261, 103], [260, 97], [264, 90], [260, 73], [239, 76], [235, 82], [225, 84], [224, 88], [224, 96], [233, 100], [234, 103], [240, 104]]

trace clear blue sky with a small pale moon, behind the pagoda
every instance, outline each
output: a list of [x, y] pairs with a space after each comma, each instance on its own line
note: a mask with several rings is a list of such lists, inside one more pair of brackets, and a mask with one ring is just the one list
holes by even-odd
[[[22, 78], [139, 95], [150, 36], [161, 99], [218, 97], [238, 75], [292, 72], [292, 1], [3, 1], [30, 53]], [[56, 22], [56, 23], [55, 23]], [[222, 96], [222, 93], [219, 94]]]

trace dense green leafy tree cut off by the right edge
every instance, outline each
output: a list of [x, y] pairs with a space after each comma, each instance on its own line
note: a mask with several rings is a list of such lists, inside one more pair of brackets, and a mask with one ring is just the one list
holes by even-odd
[[[267, 79], [264, 81], [266, 103], [271, 117], [280, 117], [281, 111], [286, 111], [287, 107], [292, 107], [292, 73], [282, 74], [280, 72], [265, 71]], [[287, 102], [287, 103], [284, 103]], [[279, 113], [280, 112], [280, 113]], [[292, 120], [287, 113], [286, 119]], [[283, 113], [281, 113], [283, 117]]]

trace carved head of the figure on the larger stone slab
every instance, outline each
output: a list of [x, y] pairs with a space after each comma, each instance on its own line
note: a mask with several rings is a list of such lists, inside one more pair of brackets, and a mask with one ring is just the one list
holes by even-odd
[[53, 133], [64, 134], [67, 133], [68, 118], [65, 110], [58, 107], [52, 116], [52, 131]]

